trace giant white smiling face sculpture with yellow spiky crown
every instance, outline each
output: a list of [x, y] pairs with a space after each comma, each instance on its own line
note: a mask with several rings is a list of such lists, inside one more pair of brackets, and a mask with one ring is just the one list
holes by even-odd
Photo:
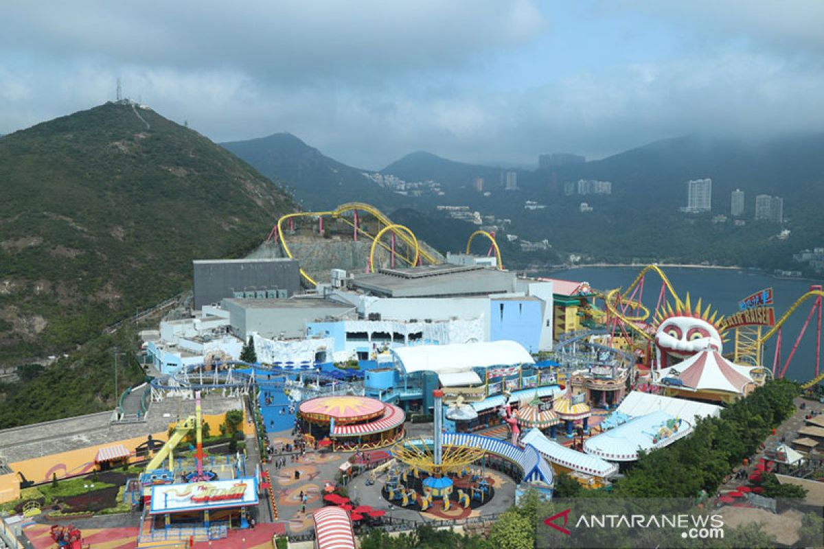
[[655, 347], [659, 368], [672, 366], [699, 351], [723, 351], [715, 314], [709, 316], [709, 305], [701, 314], [701, 300], [692, 309], [689, 295], [676, 309], [667, 305], [667, 314], [656, 315]]

